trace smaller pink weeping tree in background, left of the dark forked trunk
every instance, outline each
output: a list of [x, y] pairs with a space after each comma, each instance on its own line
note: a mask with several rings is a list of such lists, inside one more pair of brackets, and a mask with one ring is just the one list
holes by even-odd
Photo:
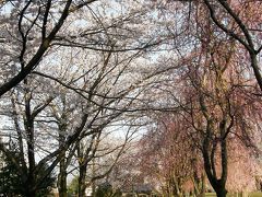
[[151, 183], [155, 179], [154, 185], [166, 196], [203, 193], [201, 154], [188, 136], [191, 127], [187, 125], [176, 114], [164, 114], [140, 141], [141, 176]]

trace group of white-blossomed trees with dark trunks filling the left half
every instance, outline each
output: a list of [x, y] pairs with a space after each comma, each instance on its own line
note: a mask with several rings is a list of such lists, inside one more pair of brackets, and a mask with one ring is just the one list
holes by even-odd
[[146, 9], [94, 0], [9, 1], [1, 9], [0, 149], [21, 177], [9, 193], [43, 195], [55, 172], [67, 196], [67, 176], [78, 171], [84, 196], [133, 138], [128, 124], [120, 136], [115, 130], [133, 119], [123, 115], [142, 91], [143, 76], [128, 83], [133, 61], [155, 44], [139, 28]]

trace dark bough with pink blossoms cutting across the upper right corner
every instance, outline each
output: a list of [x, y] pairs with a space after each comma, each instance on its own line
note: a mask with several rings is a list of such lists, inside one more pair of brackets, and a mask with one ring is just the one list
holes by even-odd
[[[250, 67], [262, 90], [262, 76], [259, 56], [261, 54], [261, 7], [260, 1], [209, 1], [204, 4], [210, 16], [225, 34], [239, 43], [239, 49], [248, 54]], [[227, 21], [225, 23], [224, 21]], [[246, 53], [247, 51], [247, 53]]]

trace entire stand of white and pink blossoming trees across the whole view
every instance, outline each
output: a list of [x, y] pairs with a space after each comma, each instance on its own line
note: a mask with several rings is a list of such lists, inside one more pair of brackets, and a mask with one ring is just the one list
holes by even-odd
[[0, 151], [21, 184], [11, 193], [40, 195], [52, 172], [61, 197], [70, 172], [78, 171], [79, 196], [87, 181], [118, 171], [124, 179], [116, 165], [146, 124], [153, 129], [133, 150], [135, 174], [160, 181], [166, 195], [192, 183], [203, 193], [206, 174], [225, 196], [239, 151], [245, 167], [259, 153], [260, 1], [0, 7]]

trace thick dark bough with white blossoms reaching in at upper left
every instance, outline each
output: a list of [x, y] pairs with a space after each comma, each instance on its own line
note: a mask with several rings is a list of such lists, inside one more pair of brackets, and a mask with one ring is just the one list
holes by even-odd
[[[146, 9], [128, 1], [4, 2], [1, 5], [0, 95], [49, 58], [49, 50], [55, 46], [109, 51], [115, 45], [115, 50], [123, 51], [156, 45], [159, 40], [155, 40], [153, 31], [150, 34], [144, 28], [138, 34]], [[150, 27], [150, 22], [147, 24]]]

